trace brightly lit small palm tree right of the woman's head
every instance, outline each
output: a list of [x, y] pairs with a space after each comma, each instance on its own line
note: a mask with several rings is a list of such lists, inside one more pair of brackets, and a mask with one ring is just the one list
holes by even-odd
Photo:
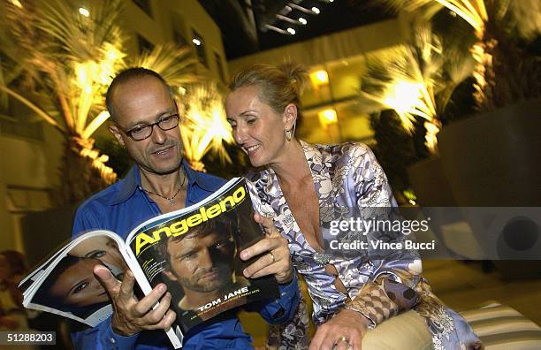
[[413, 33], [410, 45], [367, 56], [361, 105], [368, 113], [394, 110], [409, 134], [414, 133], [418, 119], [424, 120], [425, 145], [434, 154], [441, 128], [438, 115], [472, 65], [446, 49], [430, 26], [416, 24]]

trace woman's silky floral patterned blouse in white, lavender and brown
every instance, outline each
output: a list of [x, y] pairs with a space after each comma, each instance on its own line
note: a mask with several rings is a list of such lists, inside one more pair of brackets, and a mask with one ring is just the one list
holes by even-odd
[[[315, 323], [324, 323], [346, 307], [368, 317], [373, 328], [400, 311], [413, 308], [425, 318], [435, 349], [481, 348], [481, 342], [469, 324], [431, 292], [430, 285], [421, 276], [422, 263], [415, 251], [394, 252], [375, 259], [370, 251], [362, 249], [353, 254], [329, 249], [329, 242], [336, 240], [331, 233], [331, 221], [343, 220], [345, 213], [352, 209], [365, 220], [375, 215], [391, 217], [398, 207], [385, 172], [370, 148], [353, 142], [323, 146], [301, 141], [301, 146], [319, 200], [324, 252], [316, 251], [305, 240], [274, 171], [249, 172], [246, 177], [253, 185], [256, 209], [273, 217], [278, 231], [289, 240], [293, 266], [309, 286]], [[375, 208], [385, 209], [376, 214]], [[400, 240], [399, 237], [387, 239]], [[328, 264], [335, 268], [338, 276], [325, 270]], [[347, 294], [336, 288], [336, 278], [346, 287]], [[286, 325], [289, 336], [282, 339], [282, 348], [301, 348], [298, 342], [306, 342], [303, 332], [296, 330], [305, 327], [305, 324], [298, 324], [304, 323], [304, 318], [296, 317], [293, 324]], [[294, 339], [292, 334], [303, 339]]]

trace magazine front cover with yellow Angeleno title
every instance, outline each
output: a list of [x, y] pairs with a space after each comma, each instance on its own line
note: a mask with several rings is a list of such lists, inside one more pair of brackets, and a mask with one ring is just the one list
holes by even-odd
[[[219, 195], [218, 195], [219, 194]], [[263, 239], [244, 179], [210, 200], [141, 224], [126, 242], [150, 285], [164, 283], [181, 331], [248, 302], [278, 297], [274, 277], [244, 278], [242, 249]]]

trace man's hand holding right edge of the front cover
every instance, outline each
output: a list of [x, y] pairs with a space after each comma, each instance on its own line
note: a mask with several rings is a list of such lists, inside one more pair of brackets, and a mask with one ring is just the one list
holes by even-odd
[[240, 252], [240, 259], [248, 260], [252, 256], [260, 255], [259, 259], [244, 270], [244, 276], [247, 278], [259, 278], [266, 275], [276, 277], [279, 284], [286, 284], [293, 278], [293, 269], [291, 268], [291, 259], [289, 257], [289, 247], [287, 240], [278, 232], [272, 220], [269, 217], [263, 217], [255, 213], [255, 222], [263, 225], [266, 237]]

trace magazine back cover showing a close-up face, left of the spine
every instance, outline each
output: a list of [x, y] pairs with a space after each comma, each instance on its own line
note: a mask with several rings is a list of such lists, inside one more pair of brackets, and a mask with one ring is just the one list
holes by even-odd
[[90, 326], [102, 322], [110, 316], [112, 307], [109, 295], [94, 276], [94, 267], [101, 264], [122, 280], [127, 269], [123, 249], [118, 248], [122, 245], [113, 232], [99, 230], [81, 235], [42, 265], [38, 269], [41, 272], [31, 274], [40, 277], [23, 293], [23, 305]]

